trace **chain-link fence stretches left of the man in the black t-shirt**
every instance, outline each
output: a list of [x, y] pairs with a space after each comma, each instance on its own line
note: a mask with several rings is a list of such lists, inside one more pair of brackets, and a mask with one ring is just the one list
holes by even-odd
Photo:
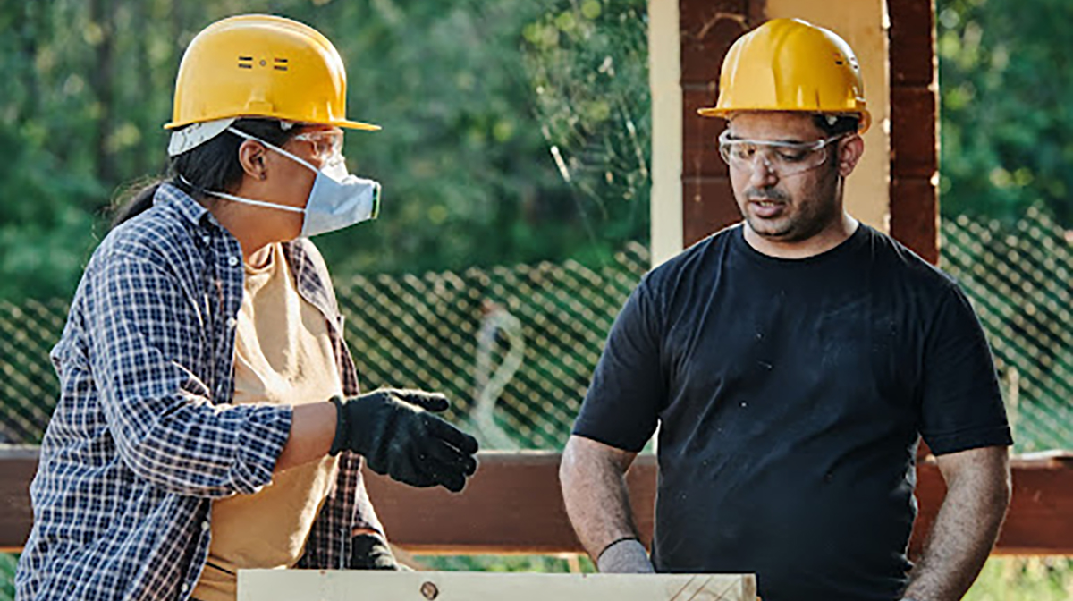
[[[423, 387], [491, 449], [565, 442], [603, 339], [649, 265], [630, 244], [599, 268], [574, 261], [336, 282], [365, 389]], [[40, 441], [58, 383], [48, 351], [63, 300], [0, 303], [0, 442]]]

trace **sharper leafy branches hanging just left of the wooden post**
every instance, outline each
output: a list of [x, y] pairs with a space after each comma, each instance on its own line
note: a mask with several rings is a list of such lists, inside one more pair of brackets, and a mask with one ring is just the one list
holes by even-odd
[[648, 229], [646, 6], [560, 1], [523, 30], [541, 131], [583, 216], [621, 246]]

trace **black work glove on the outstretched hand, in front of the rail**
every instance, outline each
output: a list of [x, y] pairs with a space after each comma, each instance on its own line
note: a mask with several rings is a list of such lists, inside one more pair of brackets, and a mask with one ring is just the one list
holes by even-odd
[[432, 414], [450, 405], [441, 394], [381, 389], [332, 402], [338, 420], [333, 455], [353, 451], [377, 473], [453, 493], [476, 471], [476, 439]]

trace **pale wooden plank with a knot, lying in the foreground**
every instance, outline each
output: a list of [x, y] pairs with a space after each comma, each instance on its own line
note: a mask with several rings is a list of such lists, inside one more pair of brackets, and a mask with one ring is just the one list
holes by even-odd
[[238, 601], [754, 601], [752, 574], [239, 570]]

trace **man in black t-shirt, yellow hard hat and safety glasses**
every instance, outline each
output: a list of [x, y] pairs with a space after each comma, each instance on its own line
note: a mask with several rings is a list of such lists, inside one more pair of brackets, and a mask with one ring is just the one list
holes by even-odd
[[[745, 222], [649, 273], [560, 470], [603, 572], [754, 572], [764, 601], [952, 601], [1009, 502], [995, 367], [946, 275], [843, 210], [868, 127], [856, 59], [776, 19], [727, 54], [720, 153]], [[659, 426], [649, 560], [623, 474]], [[921, 438], [947, 485], [906, 557]]]

